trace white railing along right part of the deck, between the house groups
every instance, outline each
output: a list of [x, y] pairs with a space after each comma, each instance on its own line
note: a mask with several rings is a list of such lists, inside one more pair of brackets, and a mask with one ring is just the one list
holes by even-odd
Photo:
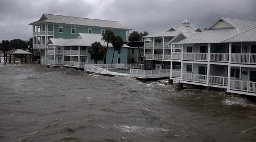
[[130, 76], [138, 77], [138, 78], [170, 77], [170, 69], [156, 69], [156, 70], [130, 69]]

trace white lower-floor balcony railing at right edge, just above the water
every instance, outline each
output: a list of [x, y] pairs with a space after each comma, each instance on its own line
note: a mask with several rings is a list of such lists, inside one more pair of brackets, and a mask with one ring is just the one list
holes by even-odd
[[230, 80], [230, 90], [256, 93], [256, 82]]

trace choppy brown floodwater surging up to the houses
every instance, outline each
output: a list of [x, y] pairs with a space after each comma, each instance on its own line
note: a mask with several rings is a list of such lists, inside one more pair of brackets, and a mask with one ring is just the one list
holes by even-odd
[[256, 141], [256, 105], [222, 91], [33, 64], [0, 81], [0, 141]]

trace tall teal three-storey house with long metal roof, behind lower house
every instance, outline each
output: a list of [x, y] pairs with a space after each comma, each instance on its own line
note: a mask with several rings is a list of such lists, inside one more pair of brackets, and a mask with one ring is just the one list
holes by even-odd
[[[131, 28], [112, 20], [79, 18], [73, 16], [43, 14], [39, 20], [32, 22], [33, 49], [40, 52], [41, 64], [48, 64], [47, 43], [49, 39], [75, 39], [79, 33], [102, 35], [106, 29], [127, 41]], [[112, 49], [109, 49], [111, 53]]]

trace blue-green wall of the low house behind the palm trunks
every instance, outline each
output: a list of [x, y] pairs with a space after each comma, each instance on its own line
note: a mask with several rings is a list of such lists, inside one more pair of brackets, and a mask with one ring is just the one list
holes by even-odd
[[[114, 59], [113, 59], [113, 64], [117, 64], [118, 57], [121, 58], [121, 64], [124, 64], [127, 62], [127, 49], [125, 47], [121, 48], [121, 54], [118, 54], [118, 51], [115, 51]], [[106, 56], [106, 64], [111, 64], [112, 61], [112, 56], [113, 56], [113, 47], [108, 48], [107, 56]], [[93, 60], [90, 60], [90, 54], [88, 54], [88, 64], [94, 64]], [[98, 64], [103, 64], [103, 61], [98, 61]]]

